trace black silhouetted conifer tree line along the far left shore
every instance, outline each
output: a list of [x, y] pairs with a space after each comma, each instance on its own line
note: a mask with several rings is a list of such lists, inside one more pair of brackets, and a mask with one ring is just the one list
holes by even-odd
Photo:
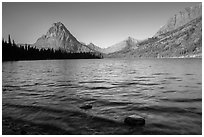
[[101, 59], [102, 54], [94, 52], [68, 53], [63, 50], [38, 49], [28, 44], [17, 45], [10, 35], [8, 42], [2, 40], [2, 61], [47, 60], [47, 59]]

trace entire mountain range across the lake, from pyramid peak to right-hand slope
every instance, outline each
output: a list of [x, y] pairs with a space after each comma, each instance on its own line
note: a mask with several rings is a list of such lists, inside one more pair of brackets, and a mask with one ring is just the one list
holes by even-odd
[[145, 40], [128, 37], [108, 48], [100, 48], [93, 43], [79, 42], [61, 22], [57, 22], [33, 46], [72, 53], [103, 53], [105, 57], [201, 57], [202, 4], [175, 14], [152, 38]]

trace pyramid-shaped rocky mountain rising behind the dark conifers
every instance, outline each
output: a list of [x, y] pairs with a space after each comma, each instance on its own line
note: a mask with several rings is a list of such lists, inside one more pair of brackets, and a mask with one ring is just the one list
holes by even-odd
[[46, 35], [40, 37], [33, 46], [45, 49], [60, 49], [73, 53], [95, 52], [85, 44], [80, 43], [61, 22], [54, 23]]

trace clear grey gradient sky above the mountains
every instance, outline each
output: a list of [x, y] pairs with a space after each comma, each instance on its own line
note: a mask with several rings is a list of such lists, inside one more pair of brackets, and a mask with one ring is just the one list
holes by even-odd
[[53, 2], [2, 3], [2, 37], [33, 44], [55, 22], [62, 22], [80, 41], [105, 48], [126, 38], [152, 37], [168, 19], [195, 2]]

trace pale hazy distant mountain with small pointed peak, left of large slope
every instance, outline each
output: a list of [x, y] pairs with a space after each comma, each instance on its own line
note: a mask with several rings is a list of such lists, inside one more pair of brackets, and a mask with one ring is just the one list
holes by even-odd
[[135, 45], [138, 43], [139, 41], [134, 39], [134, 38], [131, 38], [131, 37], [128, 37], [127, 39], [117, 43], [117, 44], [114, 44], [108, 48], [105, 48], [103, 49], [103, 53], [106, 53], [106, 54], [109, 54], [109, 53], [114, 53], [114, 52], [118, 52], [118, 51], [121, 51], [121, 50], [126, 50], [127, 48], [136, 48]]

